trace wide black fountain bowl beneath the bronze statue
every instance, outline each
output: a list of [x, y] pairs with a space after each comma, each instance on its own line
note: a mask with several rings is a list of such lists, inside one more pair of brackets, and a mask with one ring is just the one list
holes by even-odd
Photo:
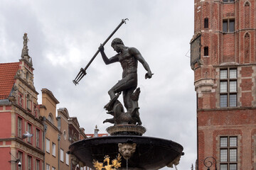
[[181, 156], [183, 147], [171, 140], [142, 136], [106, 136], [92, 137], [70, 145], [70, 154], [75, 155], [80, 162], [94, 169], [92, 161], [103, 162], [106, 155], [112, 159], [118, 155], [118, 143], [136, 143], [136, 151], [132, 157], [125, 160], [122, 157], [122, 167], [119, 169], [161, 169]]

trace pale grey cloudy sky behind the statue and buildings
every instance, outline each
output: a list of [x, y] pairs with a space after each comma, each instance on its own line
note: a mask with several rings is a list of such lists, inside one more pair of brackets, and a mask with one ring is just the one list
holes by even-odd
[[[151, 79], [139, 64], [139, 112], [144, 136], [173, 140], [183, 146], [178, 170], [196, 162], [196, 92], [190, 67], [193, 36], [193, 0], [0, 0], [0, 63], [21, 59], [23, 34], [33, 60], [34, 86], [41, 104], [41, 89], [53, 92], [77, 117], [85, 133], [100, 133], [112, 124], [103, 108], [107, 94], [122, 78], [117, 62], [106, 65], [97, 55], [87, 75], [75, 86], [73, 79], [98, 47], [124, 18], [128, 18], [105, 45], [107, 57], [116, 53], [113, 38], [136, 47], [149, 64]], [[122, 98], [121, 98], [122, 101]], [[168, 168], [163, 168], [168, 169]]]

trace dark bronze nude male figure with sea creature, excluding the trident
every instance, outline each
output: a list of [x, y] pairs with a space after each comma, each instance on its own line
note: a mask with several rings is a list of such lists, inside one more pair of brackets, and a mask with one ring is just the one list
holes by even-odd
[[[100, 45], [99, 50], [102, 55], [102, 59], [105, 64], [112, 64], [114, 62], [120, 62], [122, 65], [122, 79], [115, 84], [108, 94], [110, 94], [110, 102], [107, 103], [105, 109], [114, 116], [114, 118], [107, 119], [104, 123], [114, 123], [114, 125], [122, 124], [137, 124], [142, 125], [142, 121], [139, 118], [139, 93], [140, 89], [137, 88], [137, 67], [138, 61], [142, 63], [147, 73], [145, 79], [152, 77], [149, 64], [144, 60], [139, 50], [135, 47], [126, 47], [120, 38], [114, 38], [111, 46], [117, 55], [108, 58], [105, 55], [103, 45]], [[122, 104], [117, 100], [119, 94], [123, 95], [124, 106], [127, 108], [127, 112], [124, 112]]]

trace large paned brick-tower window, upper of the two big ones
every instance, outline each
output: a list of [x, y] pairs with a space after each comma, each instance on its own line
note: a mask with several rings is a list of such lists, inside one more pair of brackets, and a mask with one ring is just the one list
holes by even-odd
[[220, 70], [220, 108], [237, 106], [237, 69]]

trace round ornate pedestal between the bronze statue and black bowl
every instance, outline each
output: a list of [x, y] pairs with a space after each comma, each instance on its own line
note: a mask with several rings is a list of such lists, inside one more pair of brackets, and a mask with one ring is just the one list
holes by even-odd
[[106, 129], [111, 136], [115, 135], [136, 135], [142, 136], [146, 128], [142, 125], [114, 125]]

